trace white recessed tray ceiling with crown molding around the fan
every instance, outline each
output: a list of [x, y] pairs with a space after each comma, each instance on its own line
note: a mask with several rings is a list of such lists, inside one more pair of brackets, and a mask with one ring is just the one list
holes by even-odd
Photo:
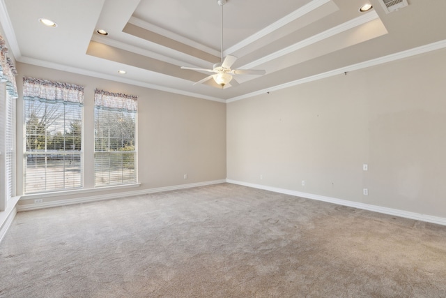
[[[408, 0], [389, 14], [379, 1], [360, 13], [367, 0], [228, 0], [223, 7], [217, 0], [0, 0], [0, 22], [17, 61], [226, 101], [446, 47], [445, 0]], [[227, 89], [212, 80], [193, 85], [208, 74], [180, 66], [220, 61], [222, 8], [224, 56], [238, 57], [233, 68], [266, 75], [238, 75], [240, 84]], [[41, 17], [58, 26], [44, 27]]]

